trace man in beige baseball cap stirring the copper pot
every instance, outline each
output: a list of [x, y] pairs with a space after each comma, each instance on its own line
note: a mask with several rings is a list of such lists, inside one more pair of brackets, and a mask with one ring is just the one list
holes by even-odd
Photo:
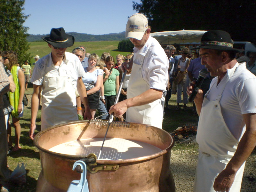
[[[161, 98], [168, 83], [169, 61], [161, 45], [150, 36], [150, 30], [143, 14], [129, 17], [125, 37], [134, 45], [134, 56], [128, 63], [132, 73], [127, 100], [114, 105], [109, 113], [114, 112], [114, 116], [120, 118], [127, 110], [127, 121], [162, 128]], [[127, 66], [122, 65], [122, 68], [127, 69]]]

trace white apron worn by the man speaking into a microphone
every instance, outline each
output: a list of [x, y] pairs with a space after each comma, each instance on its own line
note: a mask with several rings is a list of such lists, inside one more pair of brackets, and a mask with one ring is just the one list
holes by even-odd
[[[207, 99], [210, 90], [204, 97], [196, 135], [196, 141], [199, 144], [199, 156], [194, 192], [215, 192], [213, 188], [214, 180], [225, 169], [238, 146], [238, 140], [229, 131], [223, 119], [220, 106], [222, 92], [233, 73], [234, 70], [230, 73], [230, 76], [225, 76], [226, 78], [222, 79], [225, 85], [215, 101]], [[213, 86], [216, 85], [213, 84]], [[240, 191], [244, 165], [245, 162], [236, 173], [230, 192]]]

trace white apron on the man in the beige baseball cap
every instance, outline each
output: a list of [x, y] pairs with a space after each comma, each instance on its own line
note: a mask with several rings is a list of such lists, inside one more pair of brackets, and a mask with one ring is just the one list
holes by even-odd
[[[132, 73], [127, 89], [127, 99], [136, 97], [149, 90], [149, 84], [142, 77], [143, 60], [135, 60], [136, 58], [132, 64]], [[135, 62], [140, 64], [135, 64]], [[162, 129], [163, 108], [161, 100], [158, 99], [146, 105], [128, 108], [126, 112], [126, 120], [128, 122], [148, 124]]]

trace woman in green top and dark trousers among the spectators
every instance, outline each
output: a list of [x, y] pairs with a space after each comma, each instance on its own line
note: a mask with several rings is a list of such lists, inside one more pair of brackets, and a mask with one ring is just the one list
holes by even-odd
[[119, 72], [114, 69], [115, 59], [112, 56], [106, 58], [106, 68], [109, 70], [109, 76], [103, 74], [103, 84], [104, 84], [104, 95], [105, 95], [105, 107], [107, 111], [114, 105], [116, 93], [119, 89]]

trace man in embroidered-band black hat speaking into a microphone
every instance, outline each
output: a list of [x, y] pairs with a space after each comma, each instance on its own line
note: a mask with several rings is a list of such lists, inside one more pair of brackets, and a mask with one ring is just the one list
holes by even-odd
[[196, 49], [215, 78], [205, 97], [199, 90], [194, 100], [199, 115], [194, 191], [238, 192], [245, 160], [256, 145], [256, 77], [245, 63], [237, 63], [235, 54], [240, 50], [233, 48], [225, 31], [206, 32]]

